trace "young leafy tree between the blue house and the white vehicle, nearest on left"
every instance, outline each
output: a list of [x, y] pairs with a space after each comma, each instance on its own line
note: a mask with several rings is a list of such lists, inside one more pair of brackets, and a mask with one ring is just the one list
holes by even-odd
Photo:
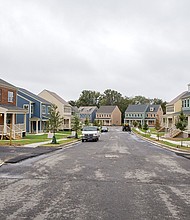
[[55, 132], [58, 130], [61, 124], [63, 124], [64, 118], [61, 117], [58, 107], [53, 104], [49, 111], [49, 121], [48, 128], [50, 131], [53, 131], [52, 144], [56, 144]]

